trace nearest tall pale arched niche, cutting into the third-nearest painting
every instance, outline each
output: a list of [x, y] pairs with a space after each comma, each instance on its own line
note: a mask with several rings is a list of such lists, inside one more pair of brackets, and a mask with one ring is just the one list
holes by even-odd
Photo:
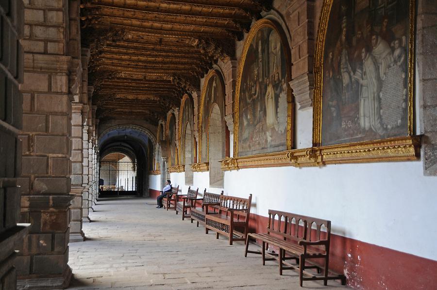
[[224, 173], [219, 163], [225, 157], [225, 130], [224, 119], [218, 104], [214, 103], [209, 115], [208, 144], [209, 154], [209, 185], [213, 188], [223, 188]]

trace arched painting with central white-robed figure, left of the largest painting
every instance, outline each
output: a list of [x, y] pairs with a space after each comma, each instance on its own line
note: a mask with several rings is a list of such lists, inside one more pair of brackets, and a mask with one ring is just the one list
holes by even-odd
[[237, 82], [238, 156], [287, 149], [288, 45], [276, 25], [257, 22], [243, 49]]

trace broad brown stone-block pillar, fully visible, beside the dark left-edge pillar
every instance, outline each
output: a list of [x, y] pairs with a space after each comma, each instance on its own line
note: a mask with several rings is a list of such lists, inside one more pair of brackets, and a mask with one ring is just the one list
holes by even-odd
[[71, 279], [67, 262], [73, 199], [67, 1], [25, 2], [21, 221], [32, 226], [17, 257], [17, 287], [63, 288]]

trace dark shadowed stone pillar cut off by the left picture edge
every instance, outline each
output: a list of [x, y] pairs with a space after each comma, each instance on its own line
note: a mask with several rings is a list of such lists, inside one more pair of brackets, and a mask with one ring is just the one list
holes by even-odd
[[17, 287], [15, 250], [29, 230], [29, 225], [17, 224], [21, 171], [21, 141], [17, 136], [23, 109], [18, 86], [23, 81], [24, 58], [19, 39], [23, 37], [23, 15], [22, 1], [0, 1], [0, 289]]

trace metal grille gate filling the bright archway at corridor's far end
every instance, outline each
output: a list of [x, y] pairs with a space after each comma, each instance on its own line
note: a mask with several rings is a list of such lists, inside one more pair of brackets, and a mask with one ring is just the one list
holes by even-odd
[[101, 159], [99, 193], [136, 194], [137, 164], [123, 153], [113, 152]]

